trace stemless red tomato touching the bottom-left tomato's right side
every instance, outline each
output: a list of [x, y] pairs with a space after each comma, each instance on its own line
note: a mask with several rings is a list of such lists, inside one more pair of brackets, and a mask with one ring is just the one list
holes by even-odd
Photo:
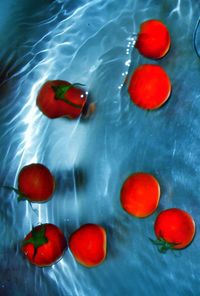
[[106, 232], [100, 225], [85, 224], [71, 235], [69, 248], [82, 265], [99, 265], [106, 256]]

